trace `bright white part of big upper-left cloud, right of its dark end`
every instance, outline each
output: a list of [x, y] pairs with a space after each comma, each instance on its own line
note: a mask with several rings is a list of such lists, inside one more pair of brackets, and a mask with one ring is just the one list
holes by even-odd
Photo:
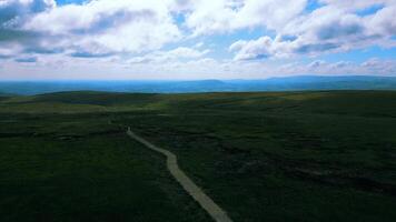
[[156, 0], [67, 4], [34, 16], [23, 29], [56, 37], [47, 47], [92, 54], [149, 51], [181, 37], [167, 3]]

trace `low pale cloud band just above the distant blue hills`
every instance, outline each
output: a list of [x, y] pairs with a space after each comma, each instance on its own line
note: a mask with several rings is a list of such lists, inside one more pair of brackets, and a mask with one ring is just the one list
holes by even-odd
[[[0, 60], [1, 61], [1, 60]], [[47, 72], [51, 67], [51, 72]], [[296, 74], [346, 75], [373, 74], [395, 75], [396, 60], [369, 59], [362, 63], [338, 62], [288, 62], [283, 61], [218, 61], [210, 58], [196, 58], [188, 61], [168, 60], [167, 62], [113, 62], [111, 59], [61, 58], [43, 56], [36, 63], [17, 61], [2, 62], [3, 79], [263, 79]], [[23, 73], [14, 77], [12, 73]]]

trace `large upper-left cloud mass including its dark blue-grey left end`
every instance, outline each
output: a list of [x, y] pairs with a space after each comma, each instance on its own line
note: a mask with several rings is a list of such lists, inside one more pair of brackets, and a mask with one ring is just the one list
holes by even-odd
[[180, 37], [167, 1], [96, 0], [61, 7], [52, 0], [0, 2], [3, 48], [21, 44], [37, 53], [101, 57], [156, 50]]

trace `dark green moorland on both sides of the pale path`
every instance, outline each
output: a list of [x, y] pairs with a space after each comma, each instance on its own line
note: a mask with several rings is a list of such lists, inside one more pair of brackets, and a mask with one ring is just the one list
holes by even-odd
[[396, 92], [0, 97], [0, 221], [396, 221]]

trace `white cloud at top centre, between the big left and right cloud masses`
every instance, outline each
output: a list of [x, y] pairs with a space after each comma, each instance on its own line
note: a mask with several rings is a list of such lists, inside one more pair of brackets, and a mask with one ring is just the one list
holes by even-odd
[[[266, 27], [278, 30], [301, 13], [307, 0], [200, 0], [189, 1], [186, 24], [194, 36]], [[287, 7], [285, 7], [287, 6]]]

